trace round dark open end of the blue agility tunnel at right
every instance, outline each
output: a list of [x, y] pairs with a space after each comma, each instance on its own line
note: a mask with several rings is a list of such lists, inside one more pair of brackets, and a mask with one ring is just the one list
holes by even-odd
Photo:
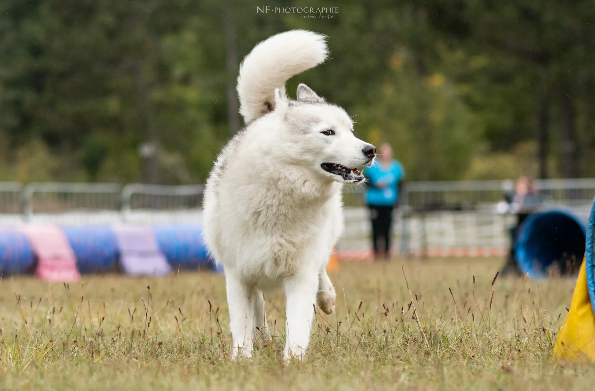
[[[591, 216], [593, 218], [593, 216]], [[573, 273], [585, 254], [587, 225], [566, 209], [533, 213], [519, 227], [516, 237], [516, 263], [531, 278], [547, 278], [552, 266], [561, 274]]]

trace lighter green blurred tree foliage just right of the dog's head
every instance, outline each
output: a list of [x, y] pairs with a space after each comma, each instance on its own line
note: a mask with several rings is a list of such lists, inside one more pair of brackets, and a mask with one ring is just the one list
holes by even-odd
[[477, 121], [443, 75], [420, 80], [402, 61], [393, 59], [377, 104], [356, 117], [370, 125], [365, 138], [392, 144], [409, 178], [460, 178], [478, 145]]

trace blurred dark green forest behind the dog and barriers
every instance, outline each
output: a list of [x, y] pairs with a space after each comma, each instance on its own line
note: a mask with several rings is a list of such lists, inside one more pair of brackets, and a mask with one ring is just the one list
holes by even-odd
[[595, 4], [271, 0], [0, 2], [0, 180], [205, 180], [242, 126], [239, 62], [328, 35], [297, 76], [388, 141], [410, 180], [595, 176]]

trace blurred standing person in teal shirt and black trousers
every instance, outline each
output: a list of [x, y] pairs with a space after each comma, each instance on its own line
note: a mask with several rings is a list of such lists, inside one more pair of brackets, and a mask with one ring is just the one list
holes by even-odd
[[[393, 208], [399, 203], [405, 170], [401, 163], [393, 160], [393, 151], [389, 144], [382, 144], [378, 150], [378, 159], [373, 166], [366, 168], [368, 189], [366, 203], [372, 220], [372, 247], [374, 258], [390, 259], [390, 228], [393, 222]], [[380, 247], [383, 241], [383, 247]]]

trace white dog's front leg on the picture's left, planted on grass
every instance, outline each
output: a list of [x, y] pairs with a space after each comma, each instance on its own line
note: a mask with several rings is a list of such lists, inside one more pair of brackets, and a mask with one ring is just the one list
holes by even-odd
[[231, 274], [226, 275], [227, 304], [231, 329], [231, 358], [252, 357], [254, 321], [250, 305], [253, 289]]

